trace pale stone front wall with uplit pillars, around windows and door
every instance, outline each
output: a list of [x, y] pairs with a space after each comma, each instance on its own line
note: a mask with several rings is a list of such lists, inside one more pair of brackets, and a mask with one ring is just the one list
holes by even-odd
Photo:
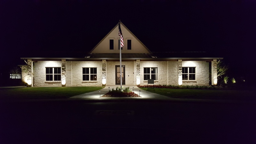
[[[34, 63], [34, 65], [33, 65]], [[35, 86], [106, 86], [116, 85], [116, 66], [119, 61], [97, 60], [97, 61], [46, 61], [28, 60], [28, 66], [22, 66], [22, 81], [32, 81]], [[155, 85], [209, 85], [209, 62], [169, 60], [169, 61], [146, 61], [146, 60], [124, 60], [125, 85], [147, 85], [144, 80], [144, 68], [157, 68], [157, 80]], [[60, 81], [46, 81], [46, 68], [61, 68]], [[196, 80], [182, 80], [182, 67], [195, 67]], [[96, 81], [83, 81], [83, 68], [97, 68]], [[212, 61], [212, 81], [217, 79], [216, 60]], [[30, 76], [30, 78], [29, 78]]]

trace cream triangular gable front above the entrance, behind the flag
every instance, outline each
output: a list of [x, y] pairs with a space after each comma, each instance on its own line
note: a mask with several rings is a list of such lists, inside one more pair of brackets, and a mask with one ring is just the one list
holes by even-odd
[[[126, 27], [120, 22], [124, 36], [124, 47], [122, 53], [150, 53], [152, 52]], [[114, 39], [114, 50], [109, 50], [109, 39]], [[118, 50], [118, 23], [112, 30], [88, 53], [119, 53]], [[132, 50], [126, 49], [126, 39], [132, 39]]]

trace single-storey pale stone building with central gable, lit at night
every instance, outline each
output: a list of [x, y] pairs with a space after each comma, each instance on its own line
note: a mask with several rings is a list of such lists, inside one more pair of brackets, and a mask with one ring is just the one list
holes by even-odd
[[[216, 85], [217, 60], [205, 52], [151, 52], [121, 23], [122, 84]], [[30, 86], [120, 84], [118, 24], [85, 57], [27, 57], [22, 81]], [[67, 54], [67, 53], [66, 53]], [[69, 54], [69, 53], [68, 53]], [[181, 56], [180, 56], [181, 55]], [[70, 58], [71, 57], [71, 58]]]

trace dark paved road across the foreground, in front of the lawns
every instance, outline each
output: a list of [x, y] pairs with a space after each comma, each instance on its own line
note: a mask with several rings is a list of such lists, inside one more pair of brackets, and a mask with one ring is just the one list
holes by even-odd
[[[100, 115], [99, 110], [128, 111], [131, 114]], [[79, 139], [88, 135], [97, 136], [95, 140], [102, 137], [112, 140], [116, 135], [121, 140], [127, 137], [152, 141], [161, 138], [186, 143], [186, 140], [204, 139], [207, 143], [250, 144], [256, 140], [255, 110], [252, 103], [152, 100], [10, 102], [0, 106], [0, 140], [36, 141], [45, 134], [53, 138], [77, 136]]]

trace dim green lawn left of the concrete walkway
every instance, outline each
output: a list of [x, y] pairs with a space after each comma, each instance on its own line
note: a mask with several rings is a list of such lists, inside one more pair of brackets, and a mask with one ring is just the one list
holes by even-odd
[[86, 87], [24, 87], [1, 88], [0, 100], [3, 99], [62, 99], [86, 92], [93, 92], [104, 88], [103, 86]]

